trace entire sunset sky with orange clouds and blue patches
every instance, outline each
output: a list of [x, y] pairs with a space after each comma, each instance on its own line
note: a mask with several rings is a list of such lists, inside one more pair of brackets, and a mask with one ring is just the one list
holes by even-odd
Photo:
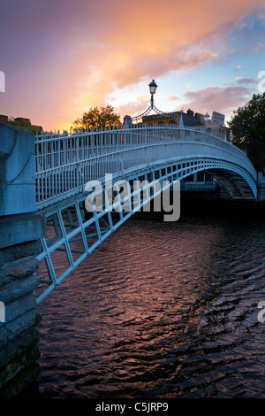
[[[0, 114], [68, 129], [91, 107], [121, 120], [163, 112], [225, 114], [265, 71], [264, 0], [0, 0]], [[265, 73], [264, 73], [265, 74]], [[3, 81], [3, 78], [2, 78]]]

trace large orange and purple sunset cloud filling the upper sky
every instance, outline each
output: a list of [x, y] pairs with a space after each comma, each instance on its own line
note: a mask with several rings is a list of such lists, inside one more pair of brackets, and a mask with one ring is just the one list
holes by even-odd
[[[8, 39], [17, 36], [18, 53], [32, 49], [30, 59], [23, 54], [19, 59], [11, 96], [15, 111], [27, 114], [14, 115], [29, 114], [45, 128], [62, 128], [89, 107], [107, 104], [106, 97], [119, 89], [231, 53], [225, 48], [228, 29], [251, 12], [261, 13], [264, 1], [12, 3], [18, 8], [13, 13], [14, 6], [8, 6], [2, 30], [9, 31]], [[139, 104], [128, 103], [117, 111], [136, 108]]]

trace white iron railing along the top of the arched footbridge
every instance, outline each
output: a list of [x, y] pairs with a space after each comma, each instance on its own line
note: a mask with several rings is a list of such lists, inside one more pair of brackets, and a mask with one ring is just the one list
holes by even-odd
[[[37, 209], [84, 191], [87, 181], [99, 180], [107, 173], [122, 174], [133, 166], [155, 162], [161, 158], [161, 145], [176, 142], [206, 143], [217, 150], [227, 150], [241, 158], [253, 176], [256, 174], [244, 151], [226, 142], [221, 135], [192, 127], [135, 125], [42, 132], [35, 139]], [[152, 157], [148, 151], [151, 147]], [[168, 158], [171, 156], [169, 153]]]

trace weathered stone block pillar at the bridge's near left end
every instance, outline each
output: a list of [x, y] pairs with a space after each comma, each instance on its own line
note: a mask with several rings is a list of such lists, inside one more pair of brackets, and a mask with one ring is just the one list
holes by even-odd
[[35, 213], [34, 134], [0, 125], [0, 397], [13, 397], [38, 374], [35, 256], [45, 219]]

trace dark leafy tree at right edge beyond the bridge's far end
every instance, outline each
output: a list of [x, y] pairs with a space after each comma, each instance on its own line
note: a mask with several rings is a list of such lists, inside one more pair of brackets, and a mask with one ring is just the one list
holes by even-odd
[[239, 149], [246, 150], [248, 158], [255, 169], [264, 171], [265, 168], [265, 93], [254, 94], [252, 99], [243, 107], [233, 112], [228, 122], [233, 144]]

